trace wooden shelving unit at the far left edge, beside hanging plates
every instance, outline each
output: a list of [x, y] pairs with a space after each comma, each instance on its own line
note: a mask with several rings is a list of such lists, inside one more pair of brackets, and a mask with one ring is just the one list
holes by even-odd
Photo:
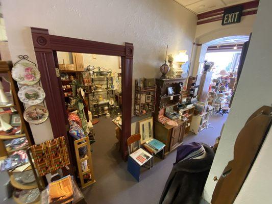
[[[19, 99], [17, 96], [17, 92], [18, 92], [18, 87], [17, 85], [15, 85], [15, 82], [13, 81], [12, 77], [11, 77], [11, 68], [12, 68], [12, 63], [11, 62], [6, 62], [6, 61], [0, 61], [0, 74], [7, 74], [9, 81], [10, 81], [10, 89], [12, 92], [12, 99], [13, 99], [13, 105], [9, 105], [9, 106], [1, 106], [0, 108], [4, 109], [4, 111], [9, 110], [11, 107], [15, 108], [18, 112], [18, 114], [20, 115], [20, 119], [21, 119], [21, 130], [23, 133], [21, 134], [15, 134], [15, 135], [0, 135], [0, 159], [5, 159], [7, 156], [11, 155], [13, 152], [20, 150], [20, 149], [27, 149], [30, 145], [33, 145], [33, 138], [31, 135], [31, 132], [29, 131], [29, 126], [24, 122], [23, 119], [23, 106], [21, 103], [19, 103]], [[18, 149], [12, 149], [12, 150], [7, 150], [4, 141], [5, 140], [12, 140], [12, 139], [16, 139], [16, 138], [21, 138], [21, 137], [26, 137], [28, 140], [28, 145], [18, 148]], [[28, 168], [26, 168], [24, 171], [28, 171], [28, 170], [32, 170], [31, 166], [29, 166]], [[20, 189], [20, 190], [29, 190], [29, 189], [34, 189], [37, 188], [37, 184], [21, 184], [18, 183], [13, 175], [13, 171], [10, 170], [8, 171], [8, 174], [10, 175], [10, 183], [14, 188]], [[16, 203], [22, 203], [18, 198], [13, 197], [14, 201]], [[34, 203], [39, 203], [39, 200], [37, 200]]]

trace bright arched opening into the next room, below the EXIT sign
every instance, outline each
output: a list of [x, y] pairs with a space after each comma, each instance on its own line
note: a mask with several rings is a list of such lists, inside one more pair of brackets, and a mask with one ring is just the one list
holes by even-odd
[[[199, 46], [193, 76], [197, 87], [195, 101], [200, 110], [209, 106], [209, 114], [197, 115], [191, 131], [194, 133], [184, 142], [214, 143], [221, 135], [230, 111], [230, 103], [237, 81], [243, 43], [249, 40], [247, 35], [234, 35], [210, 40]], [[190, 81], [189, 81], [190, 82]], [[188, 85], [189, 85], [188, 82]], [[194, 89], [195, 90], [195, 89]], [[191, 89], [190, 89], [191, 91]], [[197, 124], [197, 125], [195, 125]]]

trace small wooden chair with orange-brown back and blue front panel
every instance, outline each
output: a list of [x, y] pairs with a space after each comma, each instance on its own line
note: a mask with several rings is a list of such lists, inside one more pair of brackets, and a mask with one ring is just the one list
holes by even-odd
[[[127, 139], [127, 145], [128, 145], [128, 150], [129, 150], [129, 155], [131, 155], [134, 151], [138, 149], [142, 149], [140, 146], [140, 139], [141, 135], [140, 134], [135, 134], [130, 136]], [[134, 144], [137, 143], [137, 147], [134, 147]], [[144, 149], [142, 149], [145, 151]], [[146, 152], [146, 151], [145, 151]], [[146, 152], [148, 154], [148, 152]], [[142, 166], [151, 169], [152, 164], [153, 164], [153, 156], [151, 156], [150, 160], [147, 160]], [[149, 161], [149, 166], [145, 166], [145, 164]], [[128, 157], [128, 171], [135, 177], [135, 179], [139, 182], [140, 180], [140, 167], [139, 165], [132, 157]]]

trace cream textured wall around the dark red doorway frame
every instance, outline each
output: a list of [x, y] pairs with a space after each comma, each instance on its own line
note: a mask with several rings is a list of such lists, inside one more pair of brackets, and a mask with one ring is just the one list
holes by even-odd
[[[35, 61], [30, 27], [45, 28], [53, 35], [133, 43], [134, 79], [160, 76], [167, 44], [169, 54], [187, 49], [190, 55], [196, 29], [193, 13], [166, 0], [3, 0], [2, 5], [13, 61], [19, 54]], [[35, 139], [52, 137], [50, 124], [36, 128], [43, 134], [33, 132]]]

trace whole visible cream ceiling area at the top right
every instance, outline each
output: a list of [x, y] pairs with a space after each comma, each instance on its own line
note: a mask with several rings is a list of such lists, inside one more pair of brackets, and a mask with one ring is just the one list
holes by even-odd
[[212, 11], [252, 0], [174, 0], [195, 14]]

